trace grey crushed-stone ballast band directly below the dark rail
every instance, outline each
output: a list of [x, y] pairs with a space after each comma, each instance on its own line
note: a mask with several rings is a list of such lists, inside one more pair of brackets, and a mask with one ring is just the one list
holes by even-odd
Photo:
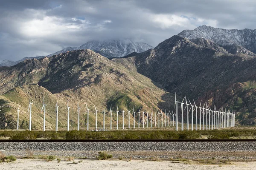
[[256, 151], [256, 142], [2, 142], [0, 150]]

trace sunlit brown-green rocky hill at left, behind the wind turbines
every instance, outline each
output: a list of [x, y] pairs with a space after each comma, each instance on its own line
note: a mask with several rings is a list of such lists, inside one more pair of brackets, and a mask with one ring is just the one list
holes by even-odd
[[[0, 68], [0, 127], [15, 128], [17, 108], [20, 105], [20, 128], [28, 128], [28, 103], [32, 100], [32, 128], [42, 129], [42, 100], [47, 104], [47, 129], [55, 128], [55, 104], [58, 101], [59, 129], [67, 128], [67, 100], [70, 101], [70, 129], [77, 128], [77, 102], [79, 102], [80, 125], [85, 128], [86, 103], [90, 108], [90, 127], [95, 125], [96, 105], [98, 127], [102, 128], [102, 111], [106, 110], [106, 126], [109, 126], [109, 109], [112, 104], [113, 127], [116, 122], [116, 107], [119, 116], [125, 110], [125, 124], [128, 112], [156, 111], [173, 107], [174, 95], [161, 85], [137, 73], [134, 65], [125, 68], [91, 50], [77, 50], [44, 57], [26, 59], [12, 67]], [[137, 115], [136, 115], [137, 116]], [[140, 115], [142, 116], [142, 115]], [[131, 115], [132, 117], [132, 115]], [[136, 117], [136, 120], [138, 118]], [[142, 120], [142, 119], [141, 119]], [[121, 121], [119, 121], [121, 123]], [[121, 124], [120, 124], [121, 126]]]

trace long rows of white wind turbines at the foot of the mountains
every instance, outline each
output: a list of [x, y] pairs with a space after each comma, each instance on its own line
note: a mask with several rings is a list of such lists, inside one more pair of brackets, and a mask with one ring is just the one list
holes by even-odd
[[[153, 109], [151, 112], [148, 111], [141, 111], [141, 108], [139, 111], [134, 111], [134, 108], [129, 111], [127, 108], [123, 108], [121, 111], [118, 110], [118, 106], [116, 107], [116, 114], [113, 115], [112, 105], [110, 106], [110, 110], [108, 113], [110, 113], [108, 116], [110, 116], [110, 122], [105, 122], [105, 116], [106, 116], [106, 110], [102, 111], [103, 115], [103, 129], [99, 129], [97, 126], [97, 116], [98, 116], [98, 109], [94, 105], [94, 113], [93, 116], [95, 116], [95, 131], [98, 130], [119, 130], [119, 116], [122, 117], [122, 129], [125, 129], [125, 126], [128, 129], [130, 128], [153, 128], [153, 127], [175, 127], [175, 130], [178, 129], [178, 124], [181, 124], [180, 130], [184, 130], [184, 112], [186, 112], [186, 130], [213, 130], [213, 129], [222, 129], [226, 127], [234, 127], [235, 126], [235, 113], [233, 111], [230, 111], [229, 109], [226, 110], [226, 108], [220, 108], [217, 110], [215, 106], [213, 106], [213, 109], [211, 109], [207, 102], [204, 102], [204, 105], [202, 105], [202, 102], [200, 102], [200, 105], [197, 106], [195, 104], [195, 101], [193, 100], [192, 104], [189, 99], [186, 98], [186, 96], [183, 98], [182, 102], [177, 101], [177, 97], [175, 94], [175, 105], [174, 109], [175, 111], [162, 111], [157, 110], [154, 111]], [[32, 101], [29, 101], [29, 131], [31, 129], [32, 125]], [[184, 108], [185, 105], [185, 108]], [[44, 124], [43, 124], [43, 130], [46, 130], [46, 104], [43, 100], [43, 106], [41, 109], [41, 112], [44, 111]], [[58, 102], [56, 102], [55, 105], [55, 115], [56, 115], [56, 131], [58, 131]], [[80, 107], [79, 102], [77, 102], [77, 116], [78, 116], [78, 122], [77, 122], [77, 130], [80, 130]], [[17, 108], [17, 130], [19, 130], [19, 107]], [[119, 115], [119, 112], [122, 112], [121, 115]], [[125, 125], [125, 112], [127, 113], [128, 122]], [[199, 112], [199, 113], [198, 113]], [[84, 118], [87, 118], [84, 120], [86, 125], [86, 130], [89, 130], [89, 114], [90, 109], [87, 107], [86, 104], [86, 112], [84, 113]], [[86, 115], [86, 116], [85, 116]], [[116, 128], [112, 127], [113, 123], [113, 116], [116, 116]], [[136, 118], [137, 117], [137, 118]], [[178, 122], [178, 117], [180, 117], [180, 122]], [[195, 120], [195, 123], [194, 123]], [[198, 125], [199, 122], [199, 125]], [[105, 123], [109, 125], [109, 127], [105, 126]], [[189, 123], [191, 127], [189, 128]], [[136, 125], [136, 126], [135, 126]], [[142, 125], [142, 127], [141, 127]], [[67, 101], [67, 131], [70, 130], [70, 106], [69, 101]]]

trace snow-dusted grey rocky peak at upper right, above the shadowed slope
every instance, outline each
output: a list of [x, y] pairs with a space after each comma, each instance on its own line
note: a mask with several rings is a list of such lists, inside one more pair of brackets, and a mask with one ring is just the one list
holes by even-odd
[[189, 40], [197, 38], [212, 40], [231, 54], [256, 56], [256, 29], [228, 30], [211, 26], [200, 26], [194, 30], [184, 30], [178, 36]]

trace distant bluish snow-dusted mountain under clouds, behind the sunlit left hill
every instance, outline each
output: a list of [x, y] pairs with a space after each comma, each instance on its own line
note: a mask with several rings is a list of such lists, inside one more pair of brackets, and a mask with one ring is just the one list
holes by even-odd
[[[61, 51], [57, 51], [53, 54], [49, 54], [47, 57], [51, 57], [53, 55], [65, 53], [67, 51], [74, 51], [74, 50], [83, 50], [83, 49], [90, 49], [104, 57], [112, 58], [112, 57], [124, 57], [128, 54], [133, 52], [141, 53], [143, 51], [147, 51], [148, 49], [154, 48], [151, 45], [148, 45], [144, 42], [134, 42], [132, 40], [105, 40], [105, 41], [88, 41], [85, 44], [81, 45], [80, 47], [67, 47], [62, 49]], [[38, 57], [24, 57], [18, 61], [10, 61], [10, 60], [3, 60], [0, 62], [1, 66], [13, 66], [19, 62], [24, 61], [25, 59], [40, 59], [44, 56]]]

